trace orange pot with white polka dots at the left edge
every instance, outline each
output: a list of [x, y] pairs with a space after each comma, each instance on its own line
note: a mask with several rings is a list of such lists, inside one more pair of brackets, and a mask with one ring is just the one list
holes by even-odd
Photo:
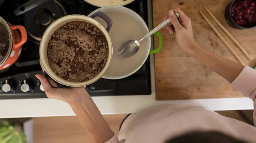
[[0, 17], [0, 34], [0, 38], [3, 36], [0, 40], [0, 70], [3, 70], [17, 61], [22, 45], [27, 41], [27, 33], [23, 26], [9, 25]]

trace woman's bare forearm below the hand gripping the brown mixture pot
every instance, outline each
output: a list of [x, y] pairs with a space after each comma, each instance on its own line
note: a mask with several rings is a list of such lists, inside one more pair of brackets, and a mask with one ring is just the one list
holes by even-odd
[[85, 91], [83, 95], [76, 95], [76, 100], [70, 106], [76, 113], [82, 126], [87, 131], [91, 143], [104, 143], [113, 137], [113, 132], [102, 117], [90, 95]]

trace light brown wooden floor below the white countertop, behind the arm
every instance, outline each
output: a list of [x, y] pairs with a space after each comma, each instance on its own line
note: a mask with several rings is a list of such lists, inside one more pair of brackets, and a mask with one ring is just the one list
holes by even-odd
[[[103, 115], [111, 130], [118, 135], [127, 114]], [[34, 143], [90, 143], [76, 116], [33, 118]]]

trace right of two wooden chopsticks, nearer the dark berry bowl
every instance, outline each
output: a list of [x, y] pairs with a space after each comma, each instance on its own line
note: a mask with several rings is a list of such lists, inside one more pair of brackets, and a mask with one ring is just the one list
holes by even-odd
[[250, 59], [252, 60], [252, 57], [246, 52], [246, 50], [244, 50], [244, 48], [242, 47], [242, 45], [239, 44], [239, 42], [230, 34], [229, 31], [227, 31], [227, 29], [221, 24], [221, 22], [219, 22], [217, 20], [217, 18], [212, 14], [211, 11], [209, 11], [209, 9], [204, 6], [204, 8], [206, 9], [206, 11], [210, 14], [210, 16], [212, 17], [213, 20], [215, 20], [215, 22], [217, 22], [217, 24], [221, 27], [221, 29], [230, 37], [230, 39], [233, 40], [234, 43], [236, 43], [236, 45], [241, 49], [241, 51]]

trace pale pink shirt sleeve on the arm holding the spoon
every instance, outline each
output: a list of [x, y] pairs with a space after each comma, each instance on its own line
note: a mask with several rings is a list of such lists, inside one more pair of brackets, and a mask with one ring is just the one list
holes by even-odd
[[256, 70], [249, 66], [245, 66], [231, 85], [245, 97], [249, 97], [253, 100], [253, 119], [254, 124], [256, 125]]

